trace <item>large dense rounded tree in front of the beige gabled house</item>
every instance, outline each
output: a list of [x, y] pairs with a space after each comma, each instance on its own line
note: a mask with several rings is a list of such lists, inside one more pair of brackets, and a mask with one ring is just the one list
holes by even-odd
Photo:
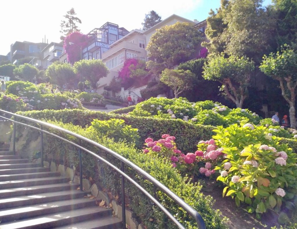
[[158, 29], [146, 49], [149, 57], [170, 68], [193, 58], [201, 41], [200, 32], [192, 24], [177, 22]]

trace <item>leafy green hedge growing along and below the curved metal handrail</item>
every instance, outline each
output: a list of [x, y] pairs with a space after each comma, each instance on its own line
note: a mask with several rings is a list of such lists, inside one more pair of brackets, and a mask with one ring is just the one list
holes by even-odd
[[[120, 155], [132, 161], [134, 164], [138, 165], [140, 168], [151, 174], [170, 190], [184, 199], [189, 205], [196, 209], [202, 216], [206, 223], [206, 228], [208, 229], [226, 229], [225, 217], [220, 216], [219, 210], [213, 209], [213, 198], [211, 196], [204, 196], [201, 193], [202, 186], [197, 183], [188, 182], [187, 178], [181, 177], [181, 175], [174, 169], [170, 164], [164, 163], [162, 158], [152, 158], [147, 154], [143, 154], [140, 150], [135, 149], [134, 145], [127, 145], [124, 142], [113, 142], [113, 140], [106, 137], [98, 136], [97, 132], [92, 128], [84, 129], [80, 126], [74, 126], [72, 124], [63, 124], [61, 122], [51, 122], [53, 124], [59, 125], [64, 129], [69, 129], [72, 132], [76, 132], [82, 136], [88, 137], [91, 140], [99, 142], [105, 147], [119, 153]], [[24, 131], [23, 128], [20, 131]], [[35, 130], [32, 130], [34, 132]], [[54, 131], [54, 130], [52, 130]], [[36, 132], [36, 131], [35, 131]], [[66, 136], [64, 133], [58, 132], [60, 136], [69, 138], [70, 140], [76, 142], [72, 136]], [[34, 134], [28, 134], [33, 136]], [[71, 166], [79, 168], [78, 166], [78, 156], [77, 149], [74, 149], [68, 143], [64, 141], [57, 141], [53, 136], [44, 134], [44, 154], [45, 157], [49, 153], [53, 153], [54, 149], [60, 149], [60, 158], [64, 158], [65, 166]], [[30, 141], [30, 137], [27, 141]], [[89, 144], [82, 143], [83, 147], [97, 152], [96, 148]], [[55, 151], [56, 152], [56, 151]], [[120, 167], [119, 160], [113, 158], [112, 156], [107, 156], [104, 151], [98, 152], [102, 157], [105, 157], [108, 161], [112, 162], [116, 166]], [[86, 177], [91, 176], [93, 179], [97, 178], [97, 185], [99, 187], [104, 187], [105, 190], [110, 192], [112, 196], [121, 196], [121, 186], [120, 176], [117, 175], [113, 170], [110, 169], [104, 163], [98, 163], [96, 165], [96, 160], [86, 153], [83, 153], [83, 174]], [[98, 167], [97, 167], [98, 166]], [[100, 169], [98, 169], [100, 168]], [[187, 228], [197, 228], [195, 220], [189, 216], [186, 212], [181, 210], [181, 208], [175, 204], [168, 196], [159, 190], [156, 190], [154, 194], [154, 185], [148, 182], [146, 179], [140, 177], [132, 169], [128, 169], [126, 166], [125, 172], [133, 177], [140, 185], [142, 185], [151, 195], [155, 197], [178, 219], [182, 224], [186, 225]], [[155, 228], [176, 228], [172, 222], [168, 221], [168, 218], [153, 204], [149, 201], [134, 185], [130, 185], [126, 181], [126, 200], [129, 203], [129, 208], [136, 214], [136, 218], [139, 222], [146, 225], [148, 229]], [[119, 199], [120, 200], [120, 199]], [[127, 204], [127, 202], [126, 202]]]

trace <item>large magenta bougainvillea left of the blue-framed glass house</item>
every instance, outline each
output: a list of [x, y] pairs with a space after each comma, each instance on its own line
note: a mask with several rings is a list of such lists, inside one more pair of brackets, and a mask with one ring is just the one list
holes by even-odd
[[[67, 54], [69, 63], [74, 64], [80, 60], [81, 48], [83, 49], [88, 45], [89, 37], [80, 32], [70, 33], [64, 40], [64, 50]], [[69, 44], [69, 42], [73, 44]]]

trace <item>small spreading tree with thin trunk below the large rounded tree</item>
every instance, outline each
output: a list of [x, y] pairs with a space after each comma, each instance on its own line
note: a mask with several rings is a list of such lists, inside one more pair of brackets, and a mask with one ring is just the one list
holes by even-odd
[[166, 68], [162, 71], [160, 81], [169, 86], [174, 96], [178, 98], [178, 95], [185, 90], [190, 90], [193, 87], [192, 81], [194, 80], [195, 74], [189, 70], [173, 70]]

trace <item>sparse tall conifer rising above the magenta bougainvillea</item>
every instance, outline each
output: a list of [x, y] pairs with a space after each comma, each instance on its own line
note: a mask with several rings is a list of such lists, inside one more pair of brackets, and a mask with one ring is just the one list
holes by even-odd
[[81, 20], [78, 17], [75, 17], [76, 13], [74, 11], [74, 8], [71, 8], [69, 11], [67, 11], [65, 17], [65, 20], [61, 20], [61, 30], [60, 33], [62, 33], [64, 36], [61, 36], [61, 40], [64, 40], [65, 36], [69, 35], [73, 32], [79, 32], [80, 29], [78, 29], [78, 26], [76, 23], [81, 24]]

